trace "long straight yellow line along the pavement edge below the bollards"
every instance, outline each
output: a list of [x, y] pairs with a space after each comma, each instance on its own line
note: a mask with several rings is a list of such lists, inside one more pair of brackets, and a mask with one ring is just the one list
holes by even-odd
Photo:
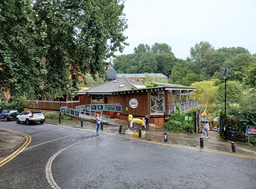
[[[52, 125], [52, 126], [63, 127], [63, 128], [70, 128], [70, 129], [95, 131], [95, 130], [86, 129], [86, 128], [69, 127], [69, 126], [63, 126], [63, 125]], [[184, 148], [184, 149], [190, 149], [190, 150], [197, 150], [197, 151], [204, 151], [204, 152], [210, 152], [210, 153], [219, 153], [219, 154], [223, 154], [223, 155], [230, 155], [230, 156], [236, 156], [236, 157], [244, 157], [244, 158], [256, 159], [256, 156], [254, 156], [254, 155], [242, 155], [242, 154], [236, 154], [236, 153], [230, 153], [230, 152], [222, 152], [222, 151], [217, 151], [217, 150], [209, 150], [209, 149], [187, 147], [187, 146], [178, 146], [178, 145], [174, 145], [174, 144], [166, 144], [166, 143], [153, 142], [153, 141], [144, 141], [144, 140], [141, 140], [141, 139], [138, 139], [138, 138], [127, 137], [127, 136], [123, 136], [122, 134], [114, 134], [114, 133], [105, 132], [105, 131], [100, 131], [100, 133], [109, 134], [111, 136], [123, 137], [123, 138], [126, 138], [126, 139], [132, 139], [132, 140], [141, 141], [141, 142], [145, 142], [145, 143], [159, 144], [159, 145], [164, 145], [164, 146], [172, 146], [172, 147], [177, 147], [177, 148]]]

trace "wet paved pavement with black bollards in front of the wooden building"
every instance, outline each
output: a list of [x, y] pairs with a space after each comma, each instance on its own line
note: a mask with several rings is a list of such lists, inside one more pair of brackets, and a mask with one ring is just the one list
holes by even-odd
[[[57, 119], [47, 119], [48, 123], [58, 124]], [[83, 127], [80, 127], [80, 120], [62, 120], [61, 125], [69, 127], [79, 127], [96, 131], [96, 124], [88, 121], [83, 122]], [[104, 124], [103, 132], [111, 134], [120, 134], [136, 140], [149, 141], [152, 143], [162, 143], [172, 146], [179, 146], [190, 149], [200, 149], [200, 137], [203, 134], [186, 133], [186, 132], [174, 132], [163, 129], [162, 127], [150, 127], [149, 130], [145, 130], [146, 134], [141, 138], [133, 136], [131, 134], [125, 134], [125, 130], [128, 129], [125, 121], [118, 119], [111, 119], [111, 125]], [[119, 126], [123, 125], [122, 132], [119, 133]], [[136, 128], [135, 128], [136, 129]], [[102, 132], [102, 131], [101, 131]], [[167, 142], [164, 142], [164, 132], [167, 132]], [[252, 156], [256, 158], [256, 147], [248, 146], [245, 144], [236, 143], [236, 153], [232, 152], [231, 143], [218, 137], [219, 134], [216, 131], [209, 131], [208, 139], [204, 138], [204, 150], [212, 152], [224, 152], [239, 155]]]

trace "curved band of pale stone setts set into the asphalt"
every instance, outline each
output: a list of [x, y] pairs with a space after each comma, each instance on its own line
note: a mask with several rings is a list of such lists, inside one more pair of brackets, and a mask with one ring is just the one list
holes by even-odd
[[50, 186], [52, 188], [58, 188], [58, 189], [61, 189], [59, 187], [59, 185], [56, 183], [56, 181], [54, 180], [53, 178], [53, 175], [52, 175], [52, 163], [53, 163], [53, 160], [63, 151], [67, 150], [68, 148], [72, 147], [72, 146], [75, 146], [83, 141], [86, 141], [86, 140], [91, 140], [91, 139], [95, 139], [96, 137], [92, 137], [92, 138], [89, 138], [89, 139], [84, 139], [82, 141], [79, 141], [79, 142], [76, 142], [74, 144], [71, 144], [69, 146], [67, 146], [66, 148], [63, 148], [61, 150], [59, 150], [58, 152], [56, 152], [55, 154], [53, 154], [50, 159], [47, 161], [47, 164], [46, 164], [46, 179], [47, 179], [47, 182], [50, 184]]

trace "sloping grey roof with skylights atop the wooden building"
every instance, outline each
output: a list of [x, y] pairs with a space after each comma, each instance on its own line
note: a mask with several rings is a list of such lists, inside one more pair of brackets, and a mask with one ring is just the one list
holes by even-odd
[[133, 86], [144, 86], [144, 84], [136, 82], [127, 77], [117, 78], [112, 80], [111, 82], [93, 87], [88, 89], [88, 94], [111, 94], [114, 91], [123, 91], [123, 90], [131, 90]]

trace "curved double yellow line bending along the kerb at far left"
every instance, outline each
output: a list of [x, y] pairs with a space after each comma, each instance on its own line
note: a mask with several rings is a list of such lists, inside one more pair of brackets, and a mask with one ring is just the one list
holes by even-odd
[[10, 160], [12, 160], [14, 157], [16, 157], [19, 153], [21, 153], [31, 143], [31, 136], [29, 136], [26, 133], [18, 132], [18, 131], [15, 131], [15, 130], [10, 130], [10, 129], [1, 128], [1, 127], [0, 127], [0, 129], [8, 131], [8, 132], [14, 132], [16, 134], [20, 134], [20, 135], [22, 135], [23, 137], [26, 138], [26, 142], [22, 146], [20, 146], [17, 150], [15, 150], [8, 157], [6, 157], [6, 158], [4, 158], [3, 160], [0, 161], [0, 167], [2, 167], [3, 165], [7, 164]]

